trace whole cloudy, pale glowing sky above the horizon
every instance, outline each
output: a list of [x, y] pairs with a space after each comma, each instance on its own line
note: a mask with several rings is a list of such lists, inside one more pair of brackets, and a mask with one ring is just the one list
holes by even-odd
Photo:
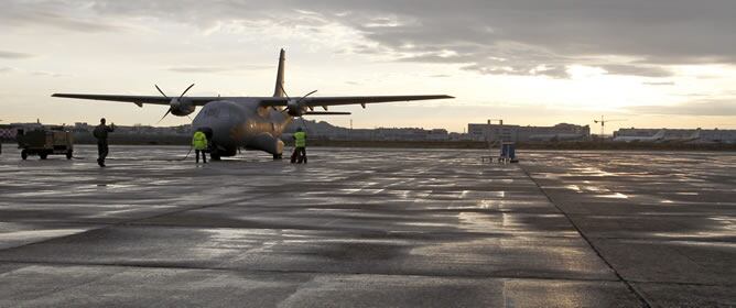
[[[736, 129], [733, 0], [6, 0], [0, 123], [177, 125], [162, 106], [54, 92], [433, 95], [340, 107], [354, 128], [467, 123]], [[335, 108], [336, 110], [338, 108]]]

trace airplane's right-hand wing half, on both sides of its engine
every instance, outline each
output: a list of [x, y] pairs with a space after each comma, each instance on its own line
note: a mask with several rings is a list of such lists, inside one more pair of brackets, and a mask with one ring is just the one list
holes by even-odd
[[[327, 107], [327, 106], [338, 106], [338, 105], [361, 105], [375, 103], [375, 102], [391, 102], [391, 101], [410, 101], [410, 100], [427, 100], [427, 99], [447, 99], [454, 98], [445, 95], [433, 95], [433, 96], [360, 96], [360, 97], [306, 97], [301, 101], [302, 106], [305, 107]], [[274, 97], [274, 98], [263, 98], [261, 100], [261, 106], [282, 106], [285, 107], [288, 103], [286, 98]]]

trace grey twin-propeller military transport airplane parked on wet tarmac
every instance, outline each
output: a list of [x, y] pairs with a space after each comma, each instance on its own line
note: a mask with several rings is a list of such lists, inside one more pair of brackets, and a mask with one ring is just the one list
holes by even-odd
[[[454, 98], [446, 95], [311, 97], [316, 90], [302, 97], [289, 97], [284, 89], [284, 63], [285, 51], [281, 50], [272, 97], [185, 97], [194, 84], [178, 97], [166, 96], [156, 85], [154, 86], [161, 97], [85, 94], [54, 94], [52, 97], [132, 102], [138, 107], [143, 107], [143, 103], [167, 105], [169, 110], [162, 120], [170, 113], [188, 117], [201, 106], [199, 113], [192, 121], [192, 128], [195, 131], [202, 130], [212, 142], [213, 161], [219, 161], [223, 156], [235, 156], [240, 147], [264, 151], [272, 154], [273, 160], [281, 160], [284, 147], [281, 134], [295, 118], [350, 114], [328, 111], [331, 106], [360, 105], [365, 109], [367, 103], [376, 102]], [[317, 107], [322, 107], [324, 111], [314, 111]]]

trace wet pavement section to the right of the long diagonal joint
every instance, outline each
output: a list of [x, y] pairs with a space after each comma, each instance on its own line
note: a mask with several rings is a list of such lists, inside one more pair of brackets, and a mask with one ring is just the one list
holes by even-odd
[[549, 154], [530, 153], [524, 169], [642, 297], [736, 304], [722, 292], [736, 282], [736, 154]]

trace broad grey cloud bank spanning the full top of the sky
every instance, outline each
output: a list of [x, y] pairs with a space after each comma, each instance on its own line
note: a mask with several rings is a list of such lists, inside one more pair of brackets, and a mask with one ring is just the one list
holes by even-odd
[[733, 0], [41, 0], [10, 1], [3, 11], [0, 23], [75, 31], [113, 31], [106, 21], [142, 18], [206, 33], [223, 24], [305, 32], [340, 25], [359, 35], [345, 51], [480, 74], [565, 78], [584, 65], [662, 78], [672, 76], [671, 65], [736, 65]]

